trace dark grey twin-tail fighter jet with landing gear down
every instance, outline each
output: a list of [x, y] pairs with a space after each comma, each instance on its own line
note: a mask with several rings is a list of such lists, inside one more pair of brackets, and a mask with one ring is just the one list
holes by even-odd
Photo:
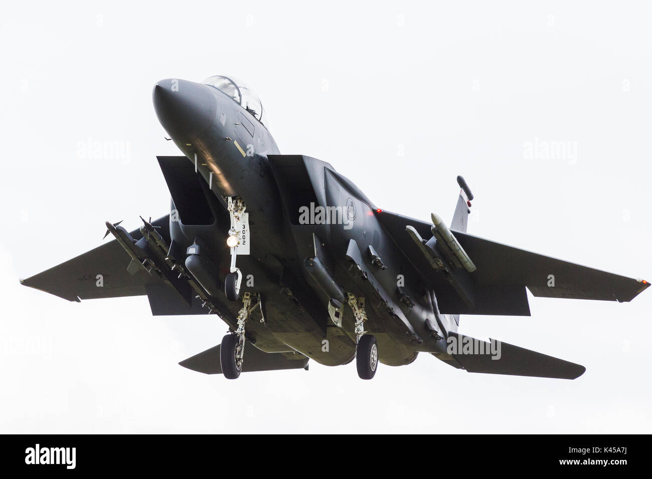
[[[153, 91], [179, 156], [158, 156], [170, 213], [22, 283], [69, 301], [147, 296], [153, 315], [213, 314], [221, 343], [179, 364], [228, 379], [427, 353], [475, 372], [575, 379], [585, 368], [460, 334], [460, 315], [530, 315], [535, 297], [630, 301], [644, 280], [469, 235], [458, 177], [452, 220], [379, 208], [330, 164], [281, 154], [242, 81], [168, 79]], [[378, 172], [381, 180], [382, 172]]]

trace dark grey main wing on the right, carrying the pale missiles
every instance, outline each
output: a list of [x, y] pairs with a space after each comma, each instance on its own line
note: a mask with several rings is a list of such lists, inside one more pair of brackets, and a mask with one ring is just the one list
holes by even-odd
[[[419, 252], [419, 248], [413, 240], [409, 238], [406, 232], [406, 226], [411, 225], [419, 232], [422, 238], [429, 239], [430, 222], [423, 222], [408, 218], [400, 214], [382, 211], [378, 212], [377, 217], [389, 235], [393, 237], [398, 247], [406, 254], [413, 265], [421, 272], [428, 282], [437, 289], [443, 289], [447, 294], [452, 293], [446, 278], [441, 272], [428, 263], [426, 257]], [[607, 301], [630, 301], [636, 295], [641, 293], [649, 286], [649, 283], [620, 276], [569, 261], [563, 261], [549, 256], [521, 250], [513, 246], [507, 246], [499, 242], [475, 237], [462, 231], [452, 231], [469, 255], [477, 269], [468, 273], [475, 293], [480, 298], [480, 304], [477, 308], [466, 308], [458, 312], [469, 314], [522, 314], [526, 312], [526, 300], [522, 304], [522, 312], [510, 312], [509, 307], [503, 304], [496, 311], [487, 312], [495, 308], [492, 302], [498, 300], [501, 289], [512, 292], [514, 298], [520, 298], [523, 302], [522, 293], [516, 291], [519, 287], [527, 287], [530, 292], [537, 297], [550, 298], [574, 298], [574, 299], [594, 299]], [[466, 272], [465, 272], [466, 274]], [[554, 280], [554, 286], [552, 281]], [[449, 289], [447, 289], [449, 288]], [[494, 300], [485, 300], [484, 291], [491, 293]], [[443, 295], [445, 296], [445, 295]], [[443, 304], [448, 304], [448, 298], [442, 298]], [[445, 308], [449, 313], [451, 309], [464, 306], [458, 306], [458, 303], [452, 302], [451, 306]], [[501, 308], [503, 312], [501, 312]]]

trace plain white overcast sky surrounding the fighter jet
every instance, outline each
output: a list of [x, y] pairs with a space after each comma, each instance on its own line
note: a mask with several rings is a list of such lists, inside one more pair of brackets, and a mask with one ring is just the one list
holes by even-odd
[[[178, 153], [151, 89], [218, 72], [256, 89], [281, 152], [330, 162], [378, 207], [449, 221], [462, 174], [469, 233], [652, 278], [649, 4], [430, 4], [5, 5], [0, 432], [651, 432], [649, 292], [462, 316], [471, 336], [583, 364], [576, 381], [473, 375], [426, 354], [372, 381], [312, 361], [228, 381], [177, 365], [220, 342], [215, 316], [19, 285], [100, 244], [106, 220], [168, 212], [155, 156]], [[128, 155], [83, 158], [89, 139]], [[535, 139], [577, 154], [527, 159]]]

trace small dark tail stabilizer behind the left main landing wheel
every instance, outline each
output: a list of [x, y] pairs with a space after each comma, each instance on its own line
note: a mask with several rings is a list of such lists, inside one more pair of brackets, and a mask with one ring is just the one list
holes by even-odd
[[[290, 357], [292, 359], [290, 359]], [[185, 359], [180, 366], [204, 374], [222, 374], [220, 345]], [[249, 341], [244, 343], [243, 373], [251, 371], [299, 370], [308, 367], [308, 358], [301, 353], [265, 353]]]

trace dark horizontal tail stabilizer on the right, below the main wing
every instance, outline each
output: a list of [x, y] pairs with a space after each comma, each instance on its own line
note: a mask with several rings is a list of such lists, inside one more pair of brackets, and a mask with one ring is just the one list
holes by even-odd
[[468, 353], [454, 356], [469, 373], [576, 379], [586, 370], [580, 364], [502, 341], [491, 340], [492, 343], [488, 343], [456, 332], [451, 332], [449, 336], [456, 339], [458, 348], [460, 348], [458, 352], [464, 351], [465, 345], [468, 347]]

